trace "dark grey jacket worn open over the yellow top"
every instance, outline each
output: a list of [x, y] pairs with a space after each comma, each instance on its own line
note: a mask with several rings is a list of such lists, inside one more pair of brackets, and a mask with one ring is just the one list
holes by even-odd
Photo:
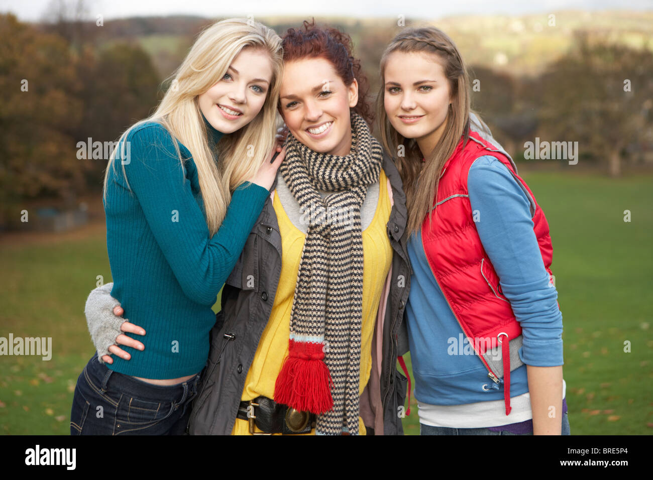
[[[360, 396], [360, 416], [368, 432], [400, 435], [407, 379], [396, 370], [396, 362], [398, 355], [408, 351], [404, 308], [411, 268], [406, 250], [406, 196], [399, 172], [385, 153], [383, 170], [394, 200], [387, 223], [393, 255], [379, 305], [379, 312], [385, 311], [385, 315], [377, 315], [375, 323], [372, 373]], [[271, 191], [275, 188], [276, 181]], [[191, 413], [191, 434], [231, 434], [249, 366], [272, 312], [280, 274], [281, 236], [272, 199], [268, 198], [222, 292], [222, 310], [211, 331], [211, 349]], [[375, 348], [378, 335], [382, 336], [381, 351]]]

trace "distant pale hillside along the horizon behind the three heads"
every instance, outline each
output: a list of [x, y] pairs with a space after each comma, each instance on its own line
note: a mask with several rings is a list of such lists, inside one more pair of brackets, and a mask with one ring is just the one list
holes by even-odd
[[[270, 16], [257, 18], [279, 34], [300, 27], [308, 17]], [[308, 18], [310, 20], [310, 18]], [[385, 45], [400, 31], [397, 18], [317, 17], [316, 22], [340, 27], [355, 42], [357, 54], [370, 74], [378, 68]], [[161, 76], [180, 63], [200, 30], [215, 19], [199, 16], [148, 16], [106, 21], [103, 27], [89, 23], [87, 35], [100, 44], [139, 42], [150, 55]], [[597, 39], [653, 50], [653, 12], [563, 10], [524, 16], [452, 16], [439, 19], [405, 20], [405, 25], [436, 25], [460, 48], [468, 65], [481, 65], [513, 75], [534, 75], [558, 59], [573, 45], [577, 32]]]

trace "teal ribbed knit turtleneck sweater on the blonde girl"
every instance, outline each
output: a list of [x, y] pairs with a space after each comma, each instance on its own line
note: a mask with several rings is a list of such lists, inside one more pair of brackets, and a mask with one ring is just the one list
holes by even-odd
[[[206, 119], [204, 123], [214, 151], [223, 134]], [[114, 355], [106, 366], [153, 379], [197, 374], [208, 358], [215, 323], [211, 307], [269, 192], [256, 184], [239, 185], [219, 231], [210, 236], [189, 150], [179, 143], [182, 167], [172, 136], [154, 122], [139, 125], [125, 140], [129, 187], [117, 160], [104, 201], [106, 246], [114, 280], [111, 295], [125, 318], [145, 328], [145, 337], [127, 335], [146, 347], [138, 351], [121, 345], [131, 360]]]

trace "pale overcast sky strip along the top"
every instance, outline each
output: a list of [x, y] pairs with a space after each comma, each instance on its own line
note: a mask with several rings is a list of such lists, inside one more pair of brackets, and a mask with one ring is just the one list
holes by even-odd
[[[37, 21], [52, 0], [0, 0], [0, 12]], [[71, 0], [66, 0], [70, 2]], [[74, 0], [72, 0], [74, 1]], [[456, 14], [531, 14], [556, 10], [653, 10], [653, 0], [86, 0], [90, 17], [104, 20], [128, 16], [349, 16], [440, 18]]]

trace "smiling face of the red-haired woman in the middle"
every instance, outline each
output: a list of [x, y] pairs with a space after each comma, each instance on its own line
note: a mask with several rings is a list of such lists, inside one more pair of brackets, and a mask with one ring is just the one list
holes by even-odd
[[351, 151], [349, 108], [358, 82], [346, 86], [330, 61], [304, 58], [284, 64], [281, 115], [293, 136], [311, 150], [344, 156]]

